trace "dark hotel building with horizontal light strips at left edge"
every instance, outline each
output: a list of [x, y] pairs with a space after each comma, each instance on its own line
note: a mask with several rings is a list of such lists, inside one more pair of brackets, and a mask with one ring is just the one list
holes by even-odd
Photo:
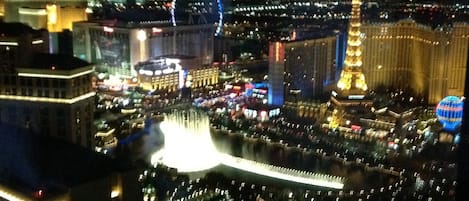
[[2, 23], [0, 33], [0, 123], [94, 148], [94, 66], [45, 53], [47, 37], [25, 25]]

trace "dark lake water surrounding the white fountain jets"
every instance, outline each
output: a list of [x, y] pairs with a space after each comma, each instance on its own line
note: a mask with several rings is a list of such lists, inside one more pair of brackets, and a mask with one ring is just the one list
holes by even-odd
[[[142, 135], [142, 137], [133, 142], [118, 147], [116, 153], [128, 157], [129, 160], [143, 159], [149, 162], [151, 154], [161, 149], [164, 145], [163, 133], [159, 129], [158, 124], [152, 125], [150, 131], [150, 133]], [[342, 162], [336, 160], [322, 159], [319, 156], [303, 152], [297, 148], [285, 148], [278, 144], [266, 143], [240, 135], [212, 133], [212, 139], [219, 151], [233, 156], [276, 166], [345, 177], [344, 189], [372, 188], [393, 182], [391, 178], [381, 173], [367, 172], [358, 165], [343, 165]], [[237, 180], [269, 184], [284, 189], [324, 189], [255, 175], [223, 165], [215, 167], [211, 171], [223, 173]], [[200, 174], [195, 175], [201, 176]]]

